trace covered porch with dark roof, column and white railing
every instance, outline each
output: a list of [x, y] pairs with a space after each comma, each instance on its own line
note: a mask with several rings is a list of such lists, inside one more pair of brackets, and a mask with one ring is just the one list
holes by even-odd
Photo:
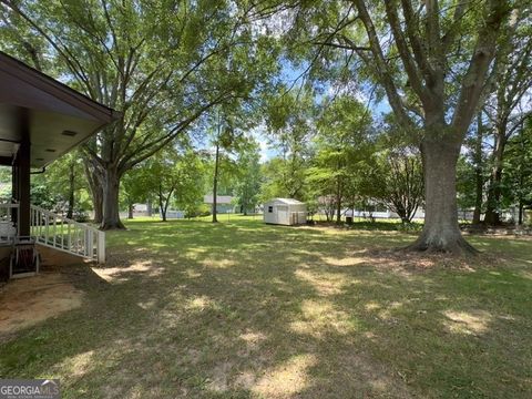
[[103, 232], [32, 206], [30, 183], [117, 115], [0, 52], [0, 165], [12, 170], [12, 200], [0, 204], [0, 258], [10, 257], [10, 276], [38, 272], [38, 263], [21, 266], [30, 255], [19, 249], [38, 244], [104, 262]]

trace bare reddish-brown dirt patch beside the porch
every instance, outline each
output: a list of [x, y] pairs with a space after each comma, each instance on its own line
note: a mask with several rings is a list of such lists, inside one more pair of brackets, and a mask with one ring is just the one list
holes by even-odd
[[83, 293], [68, 276], [43, 273], [16, 279], [0, 290], [0, 339], [81, 306]]

